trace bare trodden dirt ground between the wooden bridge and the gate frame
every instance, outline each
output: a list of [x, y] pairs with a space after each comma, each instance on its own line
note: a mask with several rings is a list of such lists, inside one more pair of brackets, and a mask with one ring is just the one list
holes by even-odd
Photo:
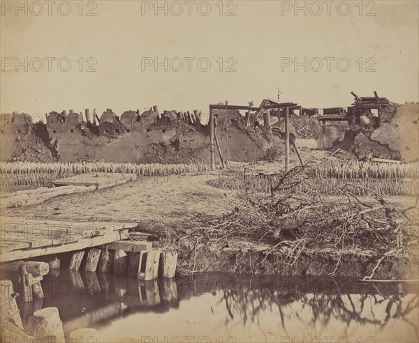
[[235, 191], [207, 185], [217, 174], [144, 177], [112, 188], [56, 197], [36, 206], [13, 208], [4, 215], [43, 220], [184, 222], [219, 217]]

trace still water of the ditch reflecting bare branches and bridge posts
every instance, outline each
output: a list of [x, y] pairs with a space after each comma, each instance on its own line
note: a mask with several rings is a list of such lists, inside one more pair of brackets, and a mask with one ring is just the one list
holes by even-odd
[[43, 288], [44, 299], [18, 302], [28, 332], [31, 314], [54, 306], [66, 335], [96, 328], [101, 342], [418, 341], [418, 283], [51, 270]]

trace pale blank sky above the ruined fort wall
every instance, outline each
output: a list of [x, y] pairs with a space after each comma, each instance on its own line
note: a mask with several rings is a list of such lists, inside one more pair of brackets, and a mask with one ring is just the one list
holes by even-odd
[[[52, 2], [20, 1], [16, 13], [15, 1], [2, 1], [2, 113], [96, 108], [100, 115], [112, 108], [120, 115], [153, 105], [205, 113], [225, 100], [276, 99], [278, 87], [281, 102], [304, 107], [346, 107], [350, 91], [418, 101], [418, 1], [159, 1], [167, 16], [154, 13], [155, 1], [68, 1], [67, 16], [66, 1]], [[297, 13], [295, 4], [302, 7]], [[87, 16], [89, 10], [96, 16]], [[165, 57], [167, 71], [142, 66], [154, 59], [164, 64]], [[304, 64], [304, 57], [307, 71], [284, 64]], [[59, 70], [59, 59], [62, 70], [71, 62], [67, 72]], [[96, 71], [87, 72], [95, 61]], [[207, 61], [209, 70], [201, 71]], [[227, 72], [229, 66], [236, 71]]]

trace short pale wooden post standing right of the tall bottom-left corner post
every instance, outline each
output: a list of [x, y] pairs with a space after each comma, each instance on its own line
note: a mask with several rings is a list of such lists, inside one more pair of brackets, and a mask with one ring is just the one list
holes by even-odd
[[63, 323], [57, 307], [45, 307], [34, 312], [35, 335], [37, 337], [56, 337], [56, 341], [64, 337]]

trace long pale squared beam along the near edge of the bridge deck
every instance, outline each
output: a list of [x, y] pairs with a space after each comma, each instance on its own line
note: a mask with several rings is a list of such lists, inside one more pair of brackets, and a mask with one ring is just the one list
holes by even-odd
[[[124, 234], [128, 234], [128, 229], [121, 230]], [[8, 252], [1, 252], [0, 261], [16, 261], [18, 259], [30, 259], [49, 254], [61, 254], [62, 252], [71, 252], [74, 250], [81, 250], [87, 247], [97, 247], [98, 245], [108, 244], [119, 241], [122, 238], [122, 233], [119, 231], [110, 231], [100, 237], [82, 238], [78, 242], [68, 243], [64, 245], [50, 246], [50, 247], [36, 247], [30, 250], [14, 250]]]

